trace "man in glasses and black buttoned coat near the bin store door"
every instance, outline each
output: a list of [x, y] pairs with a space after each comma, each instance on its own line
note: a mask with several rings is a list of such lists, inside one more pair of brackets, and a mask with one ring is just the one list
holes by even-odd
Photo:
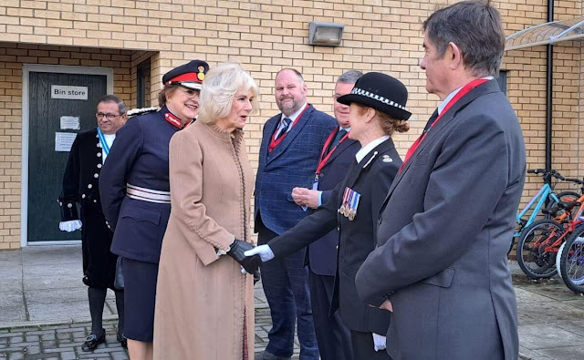
[[105, 342], [102, 317], [108, 288], [116, 294], [120, 314], [118, 341], [126, 345], [123, 335], [124, 293], [113, 285], [118, 255], [110, 252], [112, 234], [101, 211], [98, 186], [99, 173], [116, 139], [116, 131], [126, 121], [126, 105], [120, 98], [106, 95], [99, 98], [95, 115], [98, 128], [80, 132], [73, 141], [63, 174], [63, 191], [58, 199], [61, 207], [59, 229], [68, 232], [81, 229], [83, 283], [88, 286], [91, 314], [91, 333], [81, 345], [83, 351], [93, 351]]

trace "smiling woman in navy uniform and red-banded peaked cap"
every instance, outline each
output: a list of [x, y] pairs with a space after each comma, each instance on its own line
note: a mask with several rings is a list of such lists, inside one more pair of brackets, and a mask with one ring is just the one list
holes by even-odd
[[157, 112], [130, 118], [118, 131], [99, 178], [114, 231], [111, 252], [123, 258], [125, 329], [132, 359], [152, 358], [154, 298], [162, 237], [171, 212], [169, 143], [199, 109], [206, 62], [193, 60], [162, 77]]

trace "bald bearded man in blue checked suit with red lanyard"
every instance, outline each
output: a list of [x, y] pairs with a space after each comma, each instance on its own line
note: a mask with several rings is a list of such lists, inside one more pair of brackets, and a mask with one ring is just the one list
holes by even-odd
[[[307, 91], [297, 70], [284, 68], [276, 74], [276, 104], [282, 113], [266, 121], [255, 178], [259, 244], [269, 242], [307, 215], [307, 207], [294, 202], [292, 189], [314, 181], [320, 150], [338, 126], [334, 118], [307, 103]], [[318, 359], [305, 257], [306, 250], [301, 250], [283, 261], [261, 266], [272, 329], [258, 360], [292, 356], [295, 322], [300, 358]]]

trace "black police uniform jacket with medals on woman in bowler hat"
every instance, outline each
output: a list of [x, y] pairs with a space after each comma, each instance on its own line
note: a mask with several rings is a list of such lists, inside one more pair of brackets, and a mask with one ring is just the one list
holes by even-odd
[[[353, 159], [347, 176], [339, 182], [326, 204], [298, 222], [290, 231], [269, 242], [276, 258], [282, 258], [338, 227], [339, 265], [331, 314], [339, 308], [343, 323], [351, 330], [385, 334], [390, 325], [390, 312], [371, 307], [360, 300], [355, 288], [355, 274], [367, 255], [375, 249], [377, 214], [400, 166], [401, 159], [393, 141], [388, 139], [382, 142], [359, 164]], [[346, 187], [361, 194], [353, 221], [339, 213]]]

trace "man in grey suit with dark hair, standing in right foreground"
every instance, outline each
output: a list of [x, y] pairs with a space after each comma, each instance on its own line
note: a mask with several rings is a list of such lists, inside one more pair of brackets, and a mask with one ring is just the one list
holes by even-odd
[[360, 298], [392, 311], [397, 359], [516, 359], [506, 260], [525, 180], [515, 112], [493, 78], [505, 35], [488, 1], [423, 23], [426, 90], [443, 103], [408, 151], [357, 273]]

